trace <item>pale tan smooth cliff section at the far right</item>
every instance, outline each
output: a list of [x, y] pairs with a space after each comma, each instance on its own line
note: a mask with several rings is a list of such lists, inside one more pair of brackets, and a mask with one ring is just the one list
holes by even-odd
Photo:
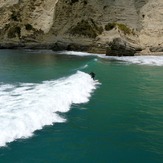
[[147, 47], [163, 46], [163, 1], [149, 0], [140, 10], [140, 43]]

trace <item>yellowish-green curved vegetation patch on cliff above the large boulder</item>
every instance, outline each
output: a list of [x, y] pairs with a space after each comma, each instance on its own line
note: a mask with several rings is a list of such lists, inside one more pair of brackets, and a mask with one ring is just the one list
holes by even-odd
[[133, 31], [127, 25], [120, 24], [120, 23], [108, 23], [105, 25], [105, 30], [110, 31], [115, 27], [117, 27], [119, 30], [121, 30], [125, 35], [126, 34], [134, 34]]

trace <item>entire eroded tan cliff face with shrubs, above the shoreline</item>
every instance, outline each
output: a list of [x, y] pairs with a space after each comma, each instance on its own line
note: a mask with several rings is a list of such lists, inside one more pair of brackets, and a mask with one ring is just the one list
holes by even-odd
[[0, 0], [0, 13], [3, 46], [163, 49], [162, 0]]

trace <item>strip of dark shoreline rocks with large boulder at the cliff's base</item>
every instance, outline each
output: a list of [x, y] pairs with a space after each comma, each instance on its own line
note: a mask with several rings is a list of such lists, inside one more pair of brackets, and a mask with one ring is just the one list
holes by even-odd
[[81, 51], [96, 54], [105, 54], [107, 56], [163, 56], [163, 52], [150, 51], [150, 49], [141, 49], [141, 47], [133, 47], [121, 39], [115, 39], [109, 44], [102, 45], [92, 44], [83, 45], [67, 42], [56, 43], [1, 43], [0, 49], [48, 49], [53, 51]]

